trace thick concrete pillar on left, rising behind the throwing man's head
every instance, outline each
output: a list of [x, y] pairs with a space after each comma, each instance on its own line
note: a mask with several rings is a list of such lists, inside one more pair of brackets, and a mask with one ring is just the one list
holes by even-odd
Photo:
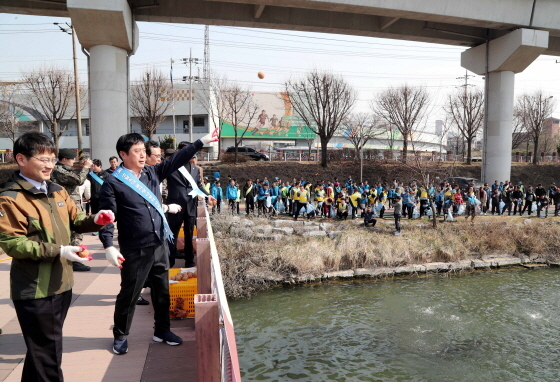
[[90, 55], [91, 154], [107, 166], [118, 138], [130, 130], [128, 56], [138, 47], [138, 29], [126, 0], [67, 0], [67, 7]]

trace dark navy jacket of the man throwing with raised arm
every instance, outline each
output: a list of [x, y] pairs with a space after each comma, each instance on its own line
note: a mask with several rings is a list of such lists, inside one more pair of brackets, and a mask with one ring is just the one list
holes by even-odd
[[[191, 160], [202, 148], [200, 140], [177, 151], [168, 159], [146, 166], [140, 175], [154, 195], [161, 200], [159, 184], [177, 169]], [[158, 245], [164, 241], [163, 219], [161, 215], [139, 194], [130, 189], [114, 176], [107, 178], [99, 192], [99, 209], [111, 210], [119, 224], [119, 245], [122, 250], [134, 250]], [[100, 231], [99, 238], [103, 247], [113, 245], [113, 224], [107, 224]]]

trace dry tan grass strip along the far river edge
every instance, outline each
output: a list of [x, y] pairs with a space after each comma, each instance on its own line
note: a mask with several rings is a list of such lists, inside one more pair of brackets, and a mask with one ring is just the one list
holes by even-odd
[[[222, 272], [229, 297], [249, 297], [271, 284], [294, 277], [321, 276], [354, 268], [394, 267], [426, 262], [455, 262], [489, 254], [542, 255], [555, 259], [560, 253], [560, 220], [480, 218], [471, 225], [462, 219], [430, 228], [405, 222], [403, 235], [393, 236], [389, 221], [374, 232], [356, 222], [341, 223], [343, 234], [328, 237], [286, 237], [280, 241], [242, 240], [231, 235], [231, 216], [213, 218], [214, 232], [222, 260]], [[267, 224], [255, 219], [256, 224]], [[337, 228], [338, 229], [338, 228]]]

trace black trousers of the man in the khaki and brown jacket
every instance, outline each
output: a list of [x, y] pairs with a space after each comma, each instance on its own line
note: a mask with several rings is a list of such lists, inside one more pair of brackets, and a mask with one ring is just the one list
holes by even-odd
[[72, 290], [35, 300], [14, 301], [23, 339], [27, 346], [22, 382], [63, 381], [62, 325]]

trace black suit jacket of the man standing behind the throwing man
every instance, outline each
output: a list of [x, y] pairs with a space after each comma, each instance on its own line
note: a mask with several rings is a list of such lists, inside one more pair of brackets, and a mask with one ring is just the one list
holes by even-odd
[[[185, 165], [185, 168], [191, 173], [198, 188], [206, 195], [210, 195], [206, 192], [200, 181], [200, 171], [198, 167], [188, 163]], [[190, 183], [180, 171], [177, 170], [167, 177], [167, 204], [178, 204], [183, 208], [183, 213], [185, 215], [195, 217], [197, 200], [189, 195], [191, 191], [192, 187]]]

